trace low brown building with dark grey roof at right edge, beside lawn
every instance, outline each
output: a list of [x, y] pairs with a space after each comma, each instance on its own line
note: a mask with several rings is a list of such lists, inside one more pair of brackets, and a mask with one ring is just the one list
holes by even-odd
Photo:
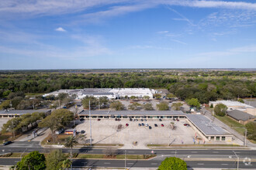
[[251, 114], [247, 114], [244, 111], [240, 111], [240, 110], [227, 111], [227, 116], [232, 118], [234, 121], [237, 121], [240, 124], [244, 124], [244, 125], [251, 121], [256, 121], [255, 116]]

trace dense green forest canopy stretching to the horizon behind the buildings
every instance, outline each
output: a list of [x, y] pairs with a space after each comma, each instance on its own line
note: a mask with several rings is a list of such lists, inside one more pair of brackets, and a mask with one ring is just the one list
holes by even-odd
[[10, 92], [48, 93], [60, 89], [148, 87], [167, 88], [182, 100], [256, 97], [255, 71], [155, 70], [113, 73], [1, 72], [0, 97]]

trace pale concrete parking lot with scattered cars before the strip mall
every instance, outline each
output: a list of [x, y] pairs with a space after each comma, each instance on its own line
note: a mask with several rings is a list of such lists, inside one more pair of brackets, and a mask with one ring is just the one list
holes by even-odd
[[[175, 130], [171, 129], [171, 120], [159, 121], [129, 121], [121, 120], [92, 120], [92, 143], [93, 144], [123, 144], [124, 148], [147, 148], [148, 144], [154, 145], [182, 145], [193, 144], [195, 131], [191, 127], [186, 127], [185, 120], [172, 121], [175, 124]], [[144, 126], [138, 124], [144, 123]], [[122, 124], [122, 128], [120, 125]], [[126, 126], [129, 124], [129, 126]], [[145, 125], [148, 124], [149, 127]], [[154, 126], [157, 124], [157, 127]], [[164, 124], [164, 127], [161, 126]], [[118, 131], [118, 127], [120, 128]], [[77, 131], [84, 130], [87, 139], [90, 138], [89, 121], [85, 120], [83, 124], [77, 126]], [[133, 145], [137, 141], [137, 145]]]

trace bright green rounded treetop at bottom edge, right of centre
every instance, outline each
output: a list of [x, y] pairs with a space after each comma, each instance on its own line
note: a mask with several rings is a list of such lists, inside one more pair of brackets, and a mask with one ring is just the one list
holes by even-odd
[[165, 158], [158, 170], [187, 170], [187, 164], [180, 158]]

